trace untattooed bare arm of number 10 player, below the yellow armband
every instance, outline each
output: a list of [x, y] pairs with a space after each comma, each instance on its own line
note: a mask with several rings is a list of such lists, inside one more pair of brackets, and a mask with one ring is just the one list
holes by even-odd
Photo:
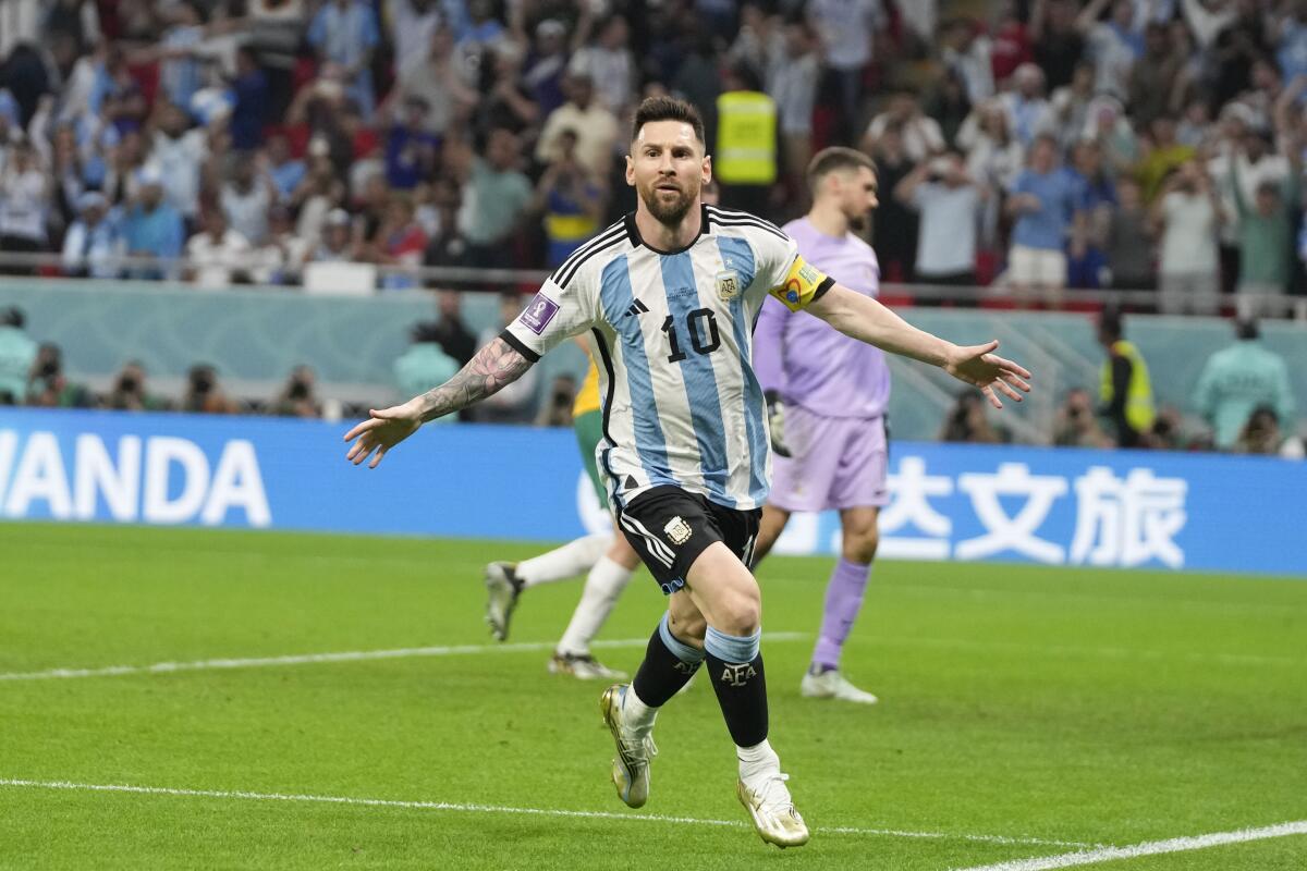
[[1002, 407], [1002, 401], [995, 390], [1017, 402], [1021, 402], [1018, 390], [1030, 392], [1023, 380], [1030, 372], [992, 354], [999, 347], [997, 341], [966, 347], [954, 345], [912, 326], [870, 296], [843, 285], [836, 283], [806, 311], [861, 342], [938, 366], [959, 381], [980, 388], [996, 409]]

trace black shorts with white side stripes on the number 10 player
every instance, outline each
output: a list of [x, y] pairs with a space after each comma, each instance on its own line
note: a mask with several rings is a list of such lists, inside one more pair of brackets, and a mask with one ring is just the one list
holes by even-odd
[[690, 565], [721, 542], [745, 565], [753, 562], [762, 509], [736, 511], [680, 487], [654, 487], [617, 511], [617, 525], [670, 595], [685, 586]]

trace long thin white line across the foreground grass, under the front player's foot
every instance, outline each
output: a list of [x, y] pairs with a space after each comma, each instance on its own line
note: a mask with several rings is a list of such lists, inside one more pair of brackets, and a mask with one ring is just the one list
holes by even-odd
[[[349, 795], [295, 795], [285, 793], [251, 793], [247, 790], [173, 789], [167, 786], [131, 786], [127, 784], [73, 784], [69, 781], [31, 781], [0, 778], [0, 786], [29, 789], [60, 789], [88, 793], [136, 793], [141, 795], [173, 795], [180, 798], [218, 798], [247, 802], [308, 802], [318, 804], [353, 804], [362, 807], [396, 807], [422, 811], [456, 811], [463, 814], [516, 814], [523, 816], [561, 816], [583, 820], [639, 820], [643, 823], [670, 823], [676, 825], [716, 825], [750, 828], [744, 820], [711, 820], [697, 816], [663, 816], [659, 814], [617, 814], [612, 811], [567, 811], [552, 807], [507, 807], [502, 804], [465, 804], [461, 802], [403, 802], [384, 798], [353, 798]], [[817, 827], [823, 834], [860, 834], [899, 838], [932, 838], [942, 841], [980, 841], [1006, 845], [1090, 846], [1078, 841], [1048, 841], [1044, 838], [1008, 837], [1002, 834], [965, 834], [953, 832], [902, 832], [898, 829], [868, 829], [847, 825]]]

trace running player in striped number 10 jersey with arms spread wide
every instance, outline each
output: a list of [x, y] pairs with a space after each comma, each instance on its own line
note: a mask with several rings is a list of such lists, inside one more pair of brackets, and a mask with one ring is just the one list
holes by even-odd
[[953, 345], [842, 287], [772, 225], [703, 206], [711, 172], [693, 106], [668, 97], [640, 103], [626, 158], [635, 212], [579, 248], [459, 375], [371, 411], [345, 434], [353, 441], [345, 456], [375, 467], [426, 420], [502, 389], [565, 337], [588, 330], [604, 367], [599, 453], [608, 495], [668, 594], [635, 680], [609, 687], [600, 701], [617, 744], [617, 794], [644, 804], [657, 712], [707, 662], [736, 744], [736, 795], [765, 841], [797, 846], [809, 833], [767, 742], [762, 597], [749, 572], [771, 465], [750, 364], [753, 319], [774, 294], [855, 338], [945, 368], [997, 407], [1000, 393], [1019, 400], [1030, 389], [1030, 373], [996, 356], [997, 342]]

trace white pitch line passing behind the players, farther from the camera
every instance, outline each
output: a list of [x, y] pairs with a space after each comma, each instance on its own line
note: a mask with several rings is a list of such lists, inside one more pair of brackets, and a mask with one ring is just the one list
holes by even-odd
[[[769, 632], [763, 641], [801, 641], [806, 632]], [[595, 641], [593, 648], [643, 648], [648, 639], [617, 639]], [[116, 678], [135, 674], [173, 674], [176, 671], [208, 671], [214, 669], [267, 669], [274, 666], [305, 666], [332, 662], [366, 662], [369, 659], [406, 659], [410, 657], [456, 657], [480, 653], [538, 653], [553, 650], [554, 641], [527, 641], [519, 644], [457, 644], [434, 648], [395, 648], [391, 650], [340, 650], [335, 653], [298, 653], [285, 657], [252, 657], [244, 659], [196, 659], [193, 662], [156, 662], [144, 666], [102, 666], [97, 669], [47, 669], [44, 671], [0, 673], [0, 683], [9, 680], [55, 680], [60, 678]]]

